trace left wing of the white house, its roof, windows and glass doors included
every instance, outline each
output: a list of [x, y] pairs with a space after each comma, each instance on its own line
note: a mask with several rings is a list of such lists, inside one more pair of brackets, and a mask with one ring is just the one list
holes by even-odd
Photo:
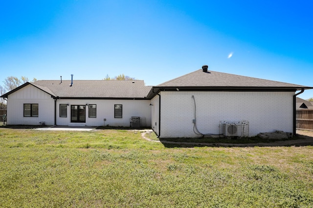
[[150, 89], [142, 80], [39, 80], [2, 96], [8, 125], [127, 127], [137, 116], [150, 127]]

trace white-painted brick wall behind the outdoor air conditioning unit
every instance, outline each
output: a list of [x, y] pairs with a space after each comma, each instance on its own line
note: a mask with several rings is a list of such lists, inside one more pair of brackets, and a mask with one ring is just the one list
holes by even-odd
[[220, 121], [249, 121], [249, 136], [292, 132], [294, 92], [160, 92], [161, 138], [219, 134]]

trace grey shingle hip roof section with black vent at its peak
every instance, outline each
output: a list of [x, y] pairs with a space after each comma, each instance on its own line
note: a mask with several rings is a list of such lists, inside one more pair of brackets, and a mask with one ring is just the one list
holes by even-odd
[[271, 81], [267, 79], [253, 78], [248, 76], [232, 75], [214, 71], [203, 72], [202, 69], [200, 69], [154, 86], [147, 97], [151, 98], [155, 96], [155, 93], [164, 90], [297, 91], [301, 90], [302, 88], [313, 89], [313, 87]]

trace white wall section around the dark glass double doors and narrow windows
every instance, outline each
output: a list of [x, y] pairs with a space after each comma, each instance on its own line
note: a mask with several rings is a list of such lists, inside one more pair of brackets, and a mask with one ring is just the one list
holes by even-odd
[[[70, 123], [70, 106], [71, 105], [97, 105], [96, 118], [89, 118], [89, 107], [86, 106], [86, 123]], [[60, 104], [68, 104], [67, 117], [60, 117]], [[114, 104], [123, 105], [122, 118], [114, 118]], [[72, 100], [58, 99], [57, 100], [57, 125], [77, 125], [86, 126], [116, 126], [129, 127], [130, 118], [139, 116], [143, 127], [151, 126], [150, 100]], [[106, 118], [106, 121], [104, 121]]]

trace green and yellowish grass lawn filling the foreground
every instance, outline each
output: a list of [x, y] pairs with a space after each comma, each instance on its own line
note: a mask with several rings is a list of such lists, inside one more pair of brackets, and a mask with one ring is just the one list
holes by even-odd
[[313, 207], [312, 153], [0, 128], [0, 207]]

